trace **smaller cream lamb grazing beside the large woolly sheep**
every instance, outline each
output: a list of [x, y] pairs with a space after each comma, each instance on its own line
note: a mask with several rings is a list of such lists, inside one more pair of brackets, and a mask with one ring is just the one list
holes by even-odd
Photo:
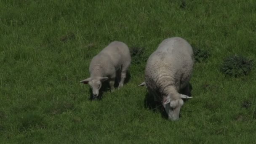
[[106, 80], [109, 81], [111, 92], [113, 92], [117, 70], [121, 71], [119, 89], [123, 87], [130, 64], [131, 56], [128, 46], [123, 42], [114, 41], [93, 57], [89, 67], [91, 76], [80, 83], [90, 85], [94, 98], [99, 96], [102, 82]]

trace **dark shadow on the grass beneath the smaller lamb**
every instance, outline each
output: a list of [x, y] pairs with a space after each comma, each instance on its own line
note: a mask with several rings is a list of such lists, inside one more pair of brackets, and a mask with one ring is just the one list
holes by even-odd
[[[121, 71], [118, 70], [117, 73], [116, 73], [116, 75], [117, 75], [117, 77], [115, 78], [115, 85], [114, 85], [115, 88], [117, 88], [118, 85], [119, 85], [119, 83], [120, 83]], [[129, 71], [127, 71], [126, 78], [125, 78], [125, 81], [124, 81], [124, 85], [125, 85], [126, 83], [128, 83], [128, 82], [130, 81], [130, 79], [131, 79], [131, 74], [130, 74]], [[102, 83], [101, 89], [100, 89], [100, 91], [99, 91], [99, 96], [97, 96], [97, 97], [93, 96], [93, 92], [92, 92], [92, 90], [91, 90], [90, 87], [89, 87], [89, 91], [90, 91], [90, 98], [89, 98], [89, 100], [91, 100], [91, 101], [95, 101], [95, 100], [101, 101], [101, 100], [102, 100], [102, 95], [103, 95], [103, 93], [104, 93], [104, 92], [107, 92], [107, 91], [110, 91], [109, 82], [108, 82], [108, 81], [104, 81], [104, 82]]]

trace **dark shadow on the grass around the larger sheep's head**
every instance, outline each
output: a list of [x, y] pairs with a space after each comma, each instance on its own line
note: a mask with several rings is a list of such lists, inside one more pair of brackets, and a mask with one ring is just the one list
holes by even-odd
[[[187, 94], [188, 96], [191, 96], [191, 91], [192, 91], [191, 83], [189, 83], [189, 89], [190, 89], [189, 93], [185, 93], [185, 89], [181, 89], [180, 93]], [[182, 100], [185, 102], [188, 99], [182, 99]], [[146, 109], [152, 110], [153, 112], [160, 112], [163, 118], [168, 119], [168, 115], [165, 112], [165, 109], [164, 109], [162, 103], [159, 101], [155, 101], [154, 96], [150, 95], [148, 92], [144, 99], [144, 107]], [[180, 114], [180, 117], [181, 117], [181, 114]]]

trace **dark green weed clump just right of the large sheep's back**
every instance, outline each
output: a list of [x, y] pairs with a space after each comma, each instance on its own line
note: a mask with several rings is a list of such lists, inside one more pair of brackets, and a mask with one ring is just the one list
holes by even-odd
[[197, 47], [193, 47], [193, 52], [194, 52], [194, 59], [195, 59], [196, 62], [204, 62], [210, 56], [209, 51], [204, 50], [204, 49], [200, 49], [200, 48], [197, 48]]

